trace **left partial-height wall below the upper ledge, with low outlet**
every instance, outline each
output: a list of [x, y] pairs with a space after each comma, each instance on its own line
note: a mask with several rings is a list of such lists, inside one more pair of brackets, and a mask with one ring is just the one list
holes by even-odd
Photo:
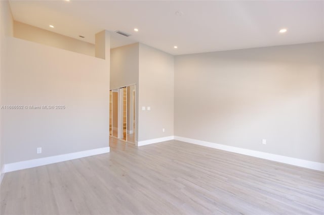
[[7, 44], [2, 105], [66, 109], [4, 110], [5, 164], [108, 147], [109, 60], [17, 38]]

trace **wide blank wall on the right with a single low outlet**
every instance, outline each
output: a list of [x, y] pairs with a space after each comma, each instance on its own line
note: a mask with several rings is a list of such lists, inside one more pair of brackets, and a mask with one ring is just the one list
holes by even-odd
[[175, 57], [175, 135], [323, 163], [323, 50], [317, 42]]

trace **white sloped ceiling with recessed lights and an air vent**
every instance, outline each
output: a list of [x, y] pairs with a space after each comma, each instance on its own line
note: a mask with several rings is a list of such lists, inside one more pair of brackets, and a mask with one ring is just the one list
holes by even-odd
[[[10, 6], [19, 22], [91, 43], [106, 29], [111, 47], [142, 42], [172, 55], [324, 40], [324, 1], [56, 0]], [[278, 33], [282, 28], [288, 31]]]

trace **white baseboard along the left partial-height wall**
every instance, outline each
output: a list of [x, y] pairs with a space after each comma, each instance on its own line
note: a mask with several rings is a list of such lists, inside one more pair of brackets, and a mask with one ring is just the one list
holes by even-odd
[[109, 147], [95, 148], [95, 149], [86, 150], [86, 151], [78, 151], [78, 152], [73, 152], [73, 153], [68, 153], [68, 154], [60, 154], [60, 155], [56, 155], [56, 156], [43, 157], [43, 158], [37, 158], [37, 159], [32, 159], [32, 160], [25, 160], [22, 162], [5, 164], [2, 173], [8, 173], [8, 172], [16, 171], [16, 170], [23, 170], [23, 169], [39, 167], [39, 166], [48, 165], [48, 164], [54, 164], [54, 163], [63, 162], [66, 160], [77, 159], [77, 158], [81, 158], [81, 157], [88, 157], [88, 156], [92, 156], [92, 155], [103, 154], [103, 153], [107, 153], [109, 151], [110, 151]]

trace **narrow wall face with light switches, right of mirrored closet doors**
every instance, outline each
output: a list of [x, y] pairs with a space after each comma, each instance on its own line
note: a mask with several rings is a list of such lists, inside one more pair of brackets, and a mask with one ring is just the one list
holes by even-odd
[[[174, 57], [140, 43], [139, 141], [173, 136], [173, 79]], [[151, 111], [142, 111], [142, 106], [150, 106]]]

